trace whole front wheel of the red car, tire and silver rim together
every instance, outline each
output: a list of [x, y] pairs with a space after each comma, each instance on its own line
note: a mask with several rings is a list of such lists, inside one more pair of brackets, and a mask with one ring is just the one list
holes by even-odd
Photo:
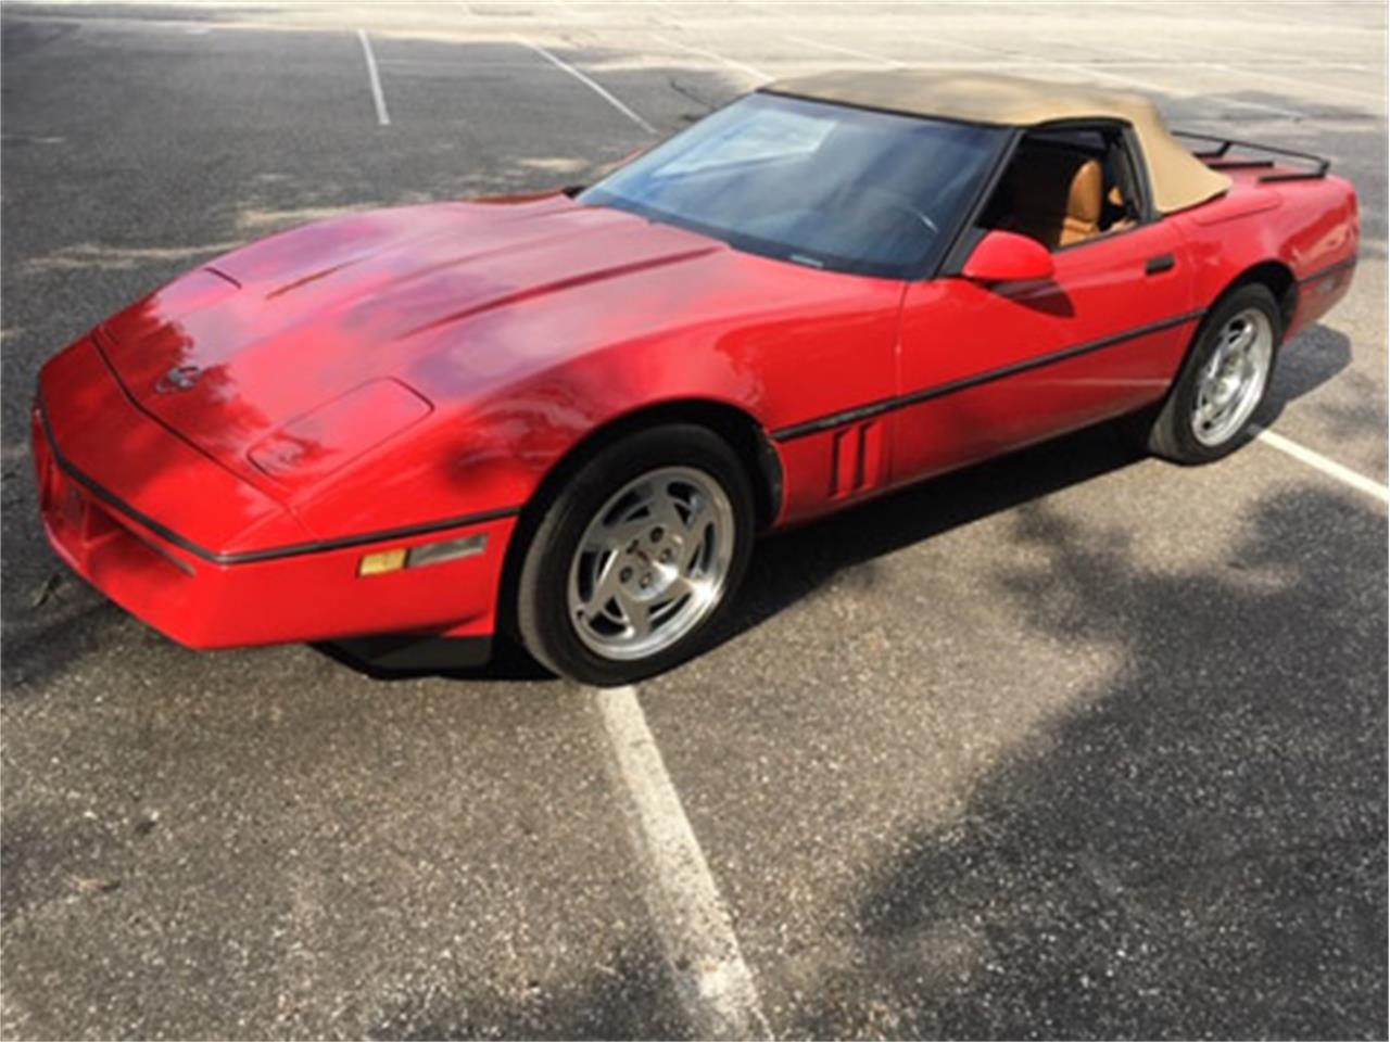
[[670, 668], [713, 635], [752, 532], [748, 475], [712, 431], [626, 438], [571, 475], [537, 528], [517, 588], [521, 640], [585, 684]]

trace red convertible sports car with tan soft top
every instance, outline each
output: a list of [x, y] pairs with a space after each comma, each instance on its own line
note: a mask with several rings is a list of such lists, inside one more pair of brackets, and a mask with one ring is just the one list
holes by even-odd
[[1127, 413], [1180, 463], [1240, 445], [1357, 199], [1195, 147], [1130, 94], [834, 72], [584, 189], [277, 235], [44, 365], [49, 539], [192, 647], [506, 627], [664, 670], [762, 531]]

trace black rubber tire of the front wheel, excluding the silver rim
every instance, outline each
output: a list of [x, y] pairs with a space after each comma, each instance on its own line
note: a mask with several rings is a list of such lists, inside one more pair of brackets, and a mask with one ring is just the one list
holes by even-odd
[[[717, 603], [676, 643], [641, 659], [610, 659], [575, 632], [567, 602], [570, 567], [589, 522], [628, 482], [663, 467], [687, 467], [717, 482], [733, 510], [733, 550]], [[706, 647], [727, 618], [753, 545], [753, 489], [723, 438], [705, 427], [653, 427], [602, 449], [553, 499], [525, 549], [517, 578], [516, 627], [525, 649], [562, 677], [613, 686], [651, 677]]]

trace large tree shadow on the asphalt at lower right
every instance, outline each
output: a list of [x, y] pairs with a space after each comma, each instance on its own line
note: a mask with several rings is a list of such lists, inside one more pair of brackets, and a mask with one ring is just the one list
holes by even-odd
[[883, 866], [791, 1034], [1383, 1036], [1384, 529], [1305, 489], [1175, 574], [1023, 506], [1001, 592], [1123, 665]]

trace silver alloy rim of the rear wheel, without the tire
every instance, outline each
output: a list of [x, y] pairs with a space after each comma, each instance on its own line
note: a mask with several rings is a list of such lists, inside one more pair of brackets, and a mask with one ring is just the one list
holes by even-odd
[[1193, 436], [1208, 447], [1225, 445], [1250, 420], [1269, 379], [1275, 331], [1258, 307], [1237, 313], [1216, 339], [1197, 379]]

